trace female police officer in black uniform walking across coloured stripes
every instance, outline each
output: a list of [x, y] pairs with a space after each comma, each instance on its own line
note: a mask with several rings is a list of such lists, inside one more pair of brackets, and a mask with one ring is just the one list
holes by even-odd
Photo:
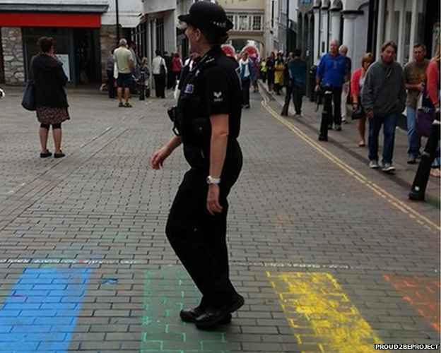
[[190, 52], [199, 61], [182, 83], [177, 105], [179, 136], [151, 157], [153, 169], [181, 143], [190, 170], [172, 204], [165, 232], [172, 248], [199, 288], [199, 306], [183, 309], [183, 321], [207, 329], [229, 323], [244, 304], [230, 282], [226, 244], [227, 196], [242, 169], [237, 143], [240, 130], [239, 68], [223, 53], [233, 23], [220, 6], [206, 1], [192, 5], [179, 19], [187, 24]]

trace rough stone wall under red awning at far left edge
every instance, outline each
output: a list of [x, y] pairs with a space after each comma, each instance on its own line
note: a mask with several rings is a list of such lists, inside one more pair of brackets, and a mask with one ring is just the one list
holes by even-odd
[[21, 28], [2, 27], [1, 47], [6, 85], [23, 85], [25, 83], [25, 61]]

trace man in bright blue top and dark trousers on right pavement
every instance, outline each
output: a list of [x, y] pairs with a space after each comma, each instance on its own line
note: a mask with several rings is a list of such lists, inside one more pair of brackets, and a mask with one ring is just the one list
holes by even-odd
[[[315, 92], [324, 92], [324, 107], [319, 140], [328, 140], [328, 130], [334, 122], [336, 131], [341, 131], [341, 91], [348, 81], [348, 64], [339, 53], [339, 41], [331, 40], [329, 52], [322, 56], [317, 68]], [[334, 103], [334, 114], [332, 114]]]

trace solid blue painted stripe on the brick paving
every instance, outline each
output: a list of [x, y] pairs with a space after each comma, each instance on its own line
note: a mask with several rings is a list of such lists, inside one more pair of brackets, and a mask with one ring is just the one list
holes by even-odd
[[26, 269], [0, 310], [0, 352], [66, 352], [90, 273]]

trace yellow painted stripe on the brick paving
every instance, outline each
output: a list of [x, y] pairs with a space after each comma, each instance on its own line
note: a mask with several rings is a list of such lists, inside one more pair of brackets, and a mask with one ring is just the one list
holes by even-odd
[[374, 353], [382, 341], [329, 273], [270, 273], [298, 344], [322, 352]]

